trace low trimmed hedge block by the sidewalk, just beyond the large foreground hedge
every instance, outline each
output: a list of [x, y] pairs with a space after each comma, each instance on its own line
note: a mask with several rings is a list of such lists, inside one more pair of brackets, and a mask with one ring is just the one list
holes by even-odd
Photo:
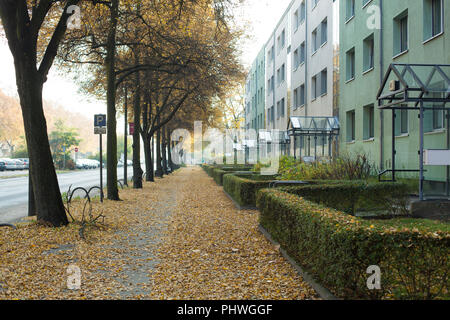
[[223, 189], [241, 207], [255, 207], [256, 192], [269, 187], [274, 179], [274, 176], [226, 174], [223, 176]]

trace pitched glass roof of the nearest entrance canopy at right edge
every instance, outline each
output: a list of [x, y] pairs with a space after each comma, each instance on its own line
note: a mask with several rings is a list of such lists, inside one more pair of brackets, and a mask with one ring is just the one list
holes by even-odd
[[450, 65], [391, 64], [377, 94], [380, 108], [415, 106], [431, 102], [428, 109], [444, 109], [450, 100]]

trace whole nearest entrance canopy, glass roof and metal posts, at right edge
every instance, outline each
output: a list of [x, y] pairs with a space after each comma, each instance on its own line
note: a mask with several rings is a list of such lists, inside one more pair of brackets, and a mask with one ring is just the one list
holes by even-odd
[[[450, 65], [391, 64], [377, 99], [380, 109], [392, 110], [392, 168], [381, 172], [380, 180], [386, 173], [392, 173], [392, 179], [382, 181], [395, 181], [397, 172], [418, 172], [420, 200], [442, 196], [450, 199]], [[401, 132], [408, 122], [396, 110], [405, 111], [406, 115], [411, 111], [419, 113], [418, 170], [396, 167], [396, 118], [405, 119], [405, 123], [400, 123]], [[435, 135], [425, 139], [425, 131], [434, 131]], [[426, 148], [426, 143], [430, 148]], [[426, 186], [430, 192], [426, 192]]]

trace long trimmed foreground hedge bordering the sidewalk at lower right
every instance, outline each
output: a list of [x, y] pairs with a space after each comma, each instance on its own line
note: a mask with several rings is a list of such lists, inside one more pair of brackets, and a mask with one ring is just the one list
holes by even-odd
[[[450, 230], [412, 219], [366, 221], [279, 189], [258, 192], [260, 223], [317, 281], [344, 299], [449, 299]], [[369, 266], [381, 290], [369, 290]]]

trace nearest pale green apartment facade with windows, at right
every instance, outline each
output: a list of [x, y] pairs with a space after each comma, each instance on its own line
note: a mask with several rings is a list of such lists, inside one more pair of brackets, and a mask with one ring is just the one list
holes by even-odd
[[[376, 25], [377, 10], [381, 29]], [[365, 153], [379, 170], [391, 169], [392, 111], [378, 108], [378, 89], [391, 63], [450, 64], [450, 3], [341, 0], [339, 25], [340, 151]], [[425, 149], [448, 149], [445, 114], [427, 112], [424, 121]], [[418, 169], [418, 111], [397, 111], [395, 125], [396, 168]], [[428, 181], [447, 179], [446, 167], [425, 169]]]

